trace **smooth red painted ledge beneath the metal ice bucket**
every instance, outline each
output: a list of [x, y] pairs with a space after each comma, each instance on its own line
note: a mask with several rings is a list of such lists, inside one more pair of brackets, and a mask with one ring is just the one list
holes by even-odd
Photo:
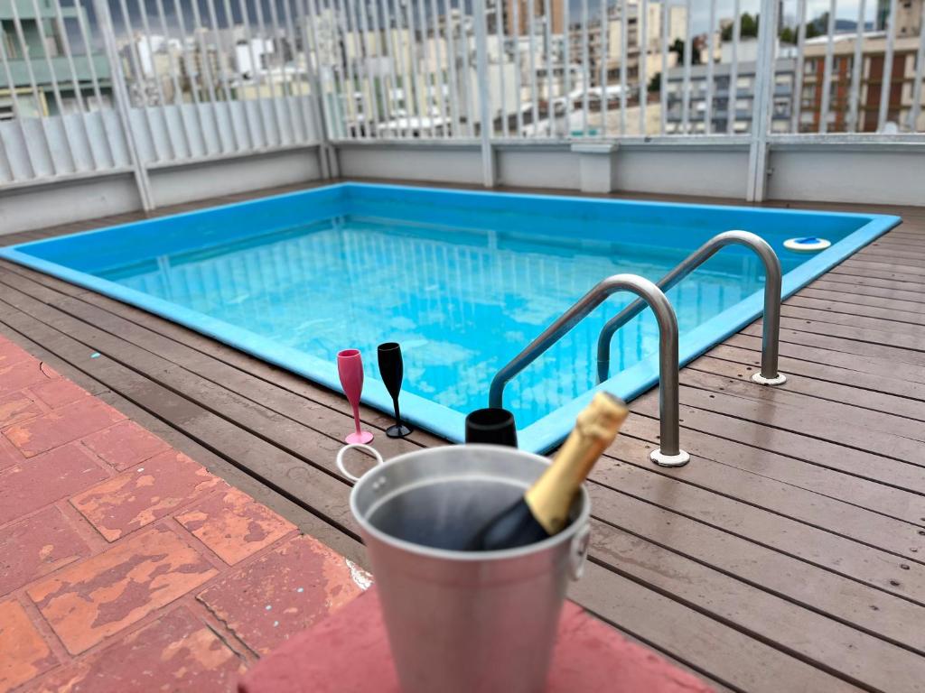
[[[302, 631], [240, 679], [239, 693], [400, 693], [376, 588]], [[709, 693], [695, 676], [566, 602], [547, 693]], [[474, 692], [475, 693], [475, 692]]]

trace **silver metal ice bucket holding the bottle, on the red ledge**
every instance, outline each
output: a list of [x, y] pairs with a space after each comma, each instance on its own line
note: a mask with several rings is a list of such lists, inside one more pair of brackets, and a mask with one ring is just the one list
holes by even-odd
[[569, 577], [581, 576], [590, 500], [529, 546], [465, 552], [549, 464], [496, 445], [448, 445], [372, 468], [351, 492], [404, 693], [536, 693]]

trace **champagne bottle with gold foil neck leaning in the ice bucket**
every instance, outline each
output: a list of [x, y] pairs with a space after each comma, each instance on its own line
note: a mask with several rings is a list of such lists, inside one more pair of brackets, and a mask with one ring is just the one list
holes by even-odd
[[613, 442], [626, 419], [622, 400], [598, 393], [578, 415], [559, 454], [524, 497], [492, 517], [466, 546], [469, 551], [498, 551], [542, 541], [568, 524], [569, 508], [598, 457]]

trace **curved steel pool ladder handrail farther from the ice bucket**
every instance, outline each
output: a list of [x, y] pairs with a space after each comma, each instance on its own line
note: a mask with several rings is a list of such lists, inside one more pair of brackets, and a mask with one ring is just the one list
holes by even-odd
[[[657, 283], [662, 291], [691, 274], [701, 264], [708, 261], [718, 250], [730, 245], [740, 245], [752, 249], [764, 263], [764, 326], [762, 328], [761, 371], [752, 376], [756, 383], [779, 385], [786, 381], [786, 376], [777, 371], [778, 341], [781, 331], [781, 261], [764, 238], [749, 231], [724, 231], [704, 243], [688, 255], [670, 273], [665, 274]], [[616, 316], [611, 318], [600, 331], [598, 337], [598, 383], [610, 377], [611, 339], [613, 334], [630, 322], [644, 310], [646, 304], [636, 299]]]

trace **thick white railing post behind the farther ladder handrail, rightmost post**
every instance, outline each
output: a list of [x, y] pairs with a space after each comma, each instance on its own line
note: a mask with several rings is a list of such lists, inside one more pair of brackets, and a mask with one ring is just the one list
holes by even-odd
[[746, 200], [764, 201], [768, 184], [768, 130], [774, 90], [774, 43], [777, 37], [777, 0], [761, 0], [755, 99], [752, 102], [751, 143], [748, 148]]

